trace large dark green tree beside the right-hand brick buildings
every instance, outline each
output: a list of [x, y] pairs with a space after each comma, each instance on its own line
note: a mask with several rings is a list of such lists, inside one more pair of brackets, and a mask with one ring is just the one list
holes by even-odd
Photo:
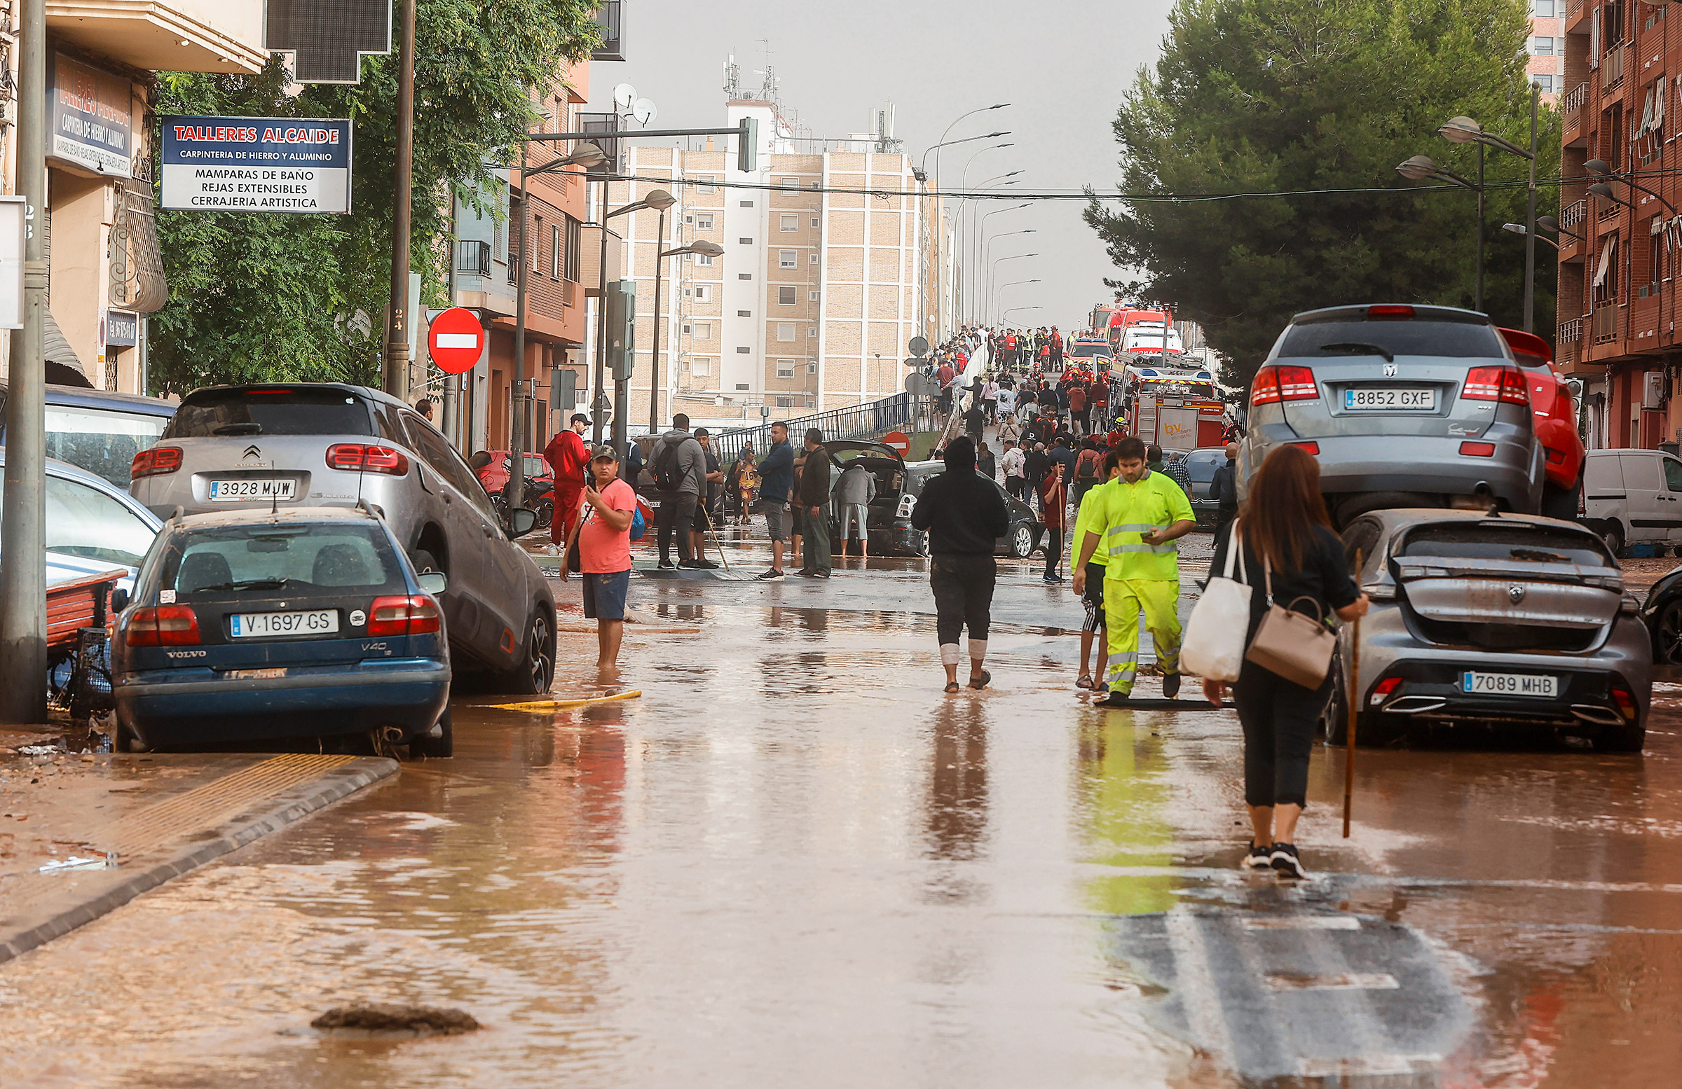
[[[1132, 277], [1129, 301], [1176, 308], [1248, 385], [1302, 309], [1337, 302], [1472, 304], [1477, 203], [1421, 188], [1396, 165], [1430, 155], [1470, 176], [1475, 148], [1436, 136], [1467, 114], [1529, 143], [1521, 0], [1179, 0], [1154, 76], [1139, 72], [1117, 118], [1130, 195], [1278, 197], [1124, 200], [1087, 210]], [[1558, 118], [1544, 109], [1537, 176], [1556, 178]], [[1485, 308], [1521, 323], [1527, 165], [1490, 151]], [[1398, 192], [1361, 192], [1361, 190]], [[1352, 190], [1283, 195], [1293, 190]], [[1558, 208], [1539, 193], [1537, 215]], [[1551, 334], [1554, 250], [1537, 247], [1536, 328]]]

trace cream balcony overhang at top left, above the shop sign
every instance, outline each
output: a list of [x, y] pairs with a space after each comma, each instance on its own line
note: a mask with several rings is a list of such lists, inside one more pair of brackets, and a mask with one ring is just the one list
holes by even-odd
[[252, 76], [269, 59], [257, 0], [47, 0], [47, 29], [153, 72]]

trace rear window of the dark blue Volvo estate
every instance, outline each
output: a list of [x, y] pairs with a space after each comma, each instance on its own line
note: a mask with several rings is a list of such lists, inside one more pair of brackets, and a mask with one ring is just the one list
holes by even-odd
[[165, 558], [161, 590], [261, 593], [286, 590], [404, 592], [402, 566], [375, 526], [252, 524], [188, 531]]

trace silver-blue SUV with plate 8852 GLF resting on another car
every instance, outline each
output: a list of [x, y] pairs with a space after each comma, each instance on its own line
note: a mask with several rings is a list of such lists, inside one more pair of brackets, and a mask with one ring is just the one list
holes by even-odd
[[1383, 508], [1541, 509], [1524, 371], [1487, 314], [1408, 304], [1297, 314], [1250, 390], [1240, 491], [1283, 444], [1319, 457], [1341, 526]]

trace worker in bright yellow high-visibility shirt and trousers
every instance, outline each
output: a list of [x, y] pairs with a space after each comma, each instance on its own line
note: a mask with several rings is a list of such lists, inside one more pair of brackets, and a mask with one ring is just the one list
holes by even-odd
[[1162, 694], [1179, 696], [1179, 546], [1198, 524], [1186, 491], [1164, 472], [1145, 467], [1145, 444], [1129, 435], [1115, 447], [1120, 476], [1103, 506], [1087, 519], [1076, 548], [1075, 593], [1087, 590], [1087, 561], [1100, 548], [1103, 618], [1110, 647], [1110, 691], [1093, 706], [1124, 708], [1139, 672], [1139, 613], [1156, 644]]

